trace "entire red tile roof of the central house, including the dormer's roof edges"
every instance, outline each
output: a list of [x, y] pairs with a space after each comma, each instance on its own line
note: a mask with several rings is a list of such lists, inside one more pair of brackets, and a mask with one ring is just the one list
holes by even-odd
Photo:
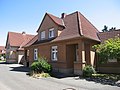
[[[53, 40], [49, 40], [48, 42], [55, 42], [60, 40], [76, 38], [76, 37], [84, 37], [84, 38], [89, 38], [95, 41], [100, 41], [100, 39], [97, 36], [97, 33], [99, 33], [99, 31], [78, 11], [72, 14], [66, 15], [65, 18], [63, 19], [48, 13], [46, 13], [45, 16], [46, 15], [48, 15], [53, 20], [53, 22], [55, 22], [57, 25], [64, 26], [64, 29], [62, 30], [61, 34], [57, 38]], [[43, 20], [41, 24], [43, 23]], [[40, 24], [40, 27], [41, 27], [41, 24]], [[37, 37], [35, 37], [35, 40], [30, 41], [30, 43], [28, 43], [28, 45], [26, 46], [32, 45], [36, 41], [36, 39]]]

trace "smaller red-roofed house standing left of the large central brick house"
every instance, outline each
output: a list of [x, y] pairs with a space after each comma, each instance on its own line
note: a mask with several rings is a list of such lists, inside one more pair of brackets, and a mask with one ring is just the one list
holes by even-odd
[[24, 48], [34, 35], [26, 34], [25, 32], [16, 33], [8, 32], [6, 41], [6, 62], [21, 63], [24, 60]]

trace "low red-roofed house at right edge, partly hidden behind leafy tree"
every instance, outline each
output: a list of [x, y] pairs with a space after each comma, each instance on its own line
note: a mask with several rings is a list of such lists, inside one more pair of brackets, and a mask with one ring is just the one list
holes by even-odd
[[[98, 36], [101, 42], [104, 43], [105, 40], [110, 38], [120, 37], [120, 29], [108, 32], [100, 32]], [[117, 61], [117, 59], [108, 60], [107, 63], [98, 64], [97, 69], [98, 71], [104, 73], [120, 73], [120, 61]]]

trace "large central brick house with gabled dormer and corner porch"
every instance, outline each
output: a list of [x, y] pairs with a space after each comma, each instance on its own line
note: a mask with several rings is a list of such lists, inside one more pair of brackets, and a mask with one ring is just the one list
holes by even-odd
[[100, 43], [99, 31], [80, 12], [61, 18], [46, 13], [35, 36], [25, 46], [26, 65], [46, 57], [53, 70], [82, 74], [85, 65], [95, 64], [92, 46]]

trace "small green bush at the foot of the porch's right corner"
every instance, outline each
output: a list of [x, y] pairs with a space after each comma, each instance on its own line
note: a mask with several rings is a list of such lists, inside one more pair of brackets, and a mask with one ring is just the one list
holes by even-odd
[[96, 73], [95, 69], [90, 65], [87, 65], [83, 68], [83, 76], [84, 77], [91, 77], [92, 74], [95, 74], [95, 73]]

